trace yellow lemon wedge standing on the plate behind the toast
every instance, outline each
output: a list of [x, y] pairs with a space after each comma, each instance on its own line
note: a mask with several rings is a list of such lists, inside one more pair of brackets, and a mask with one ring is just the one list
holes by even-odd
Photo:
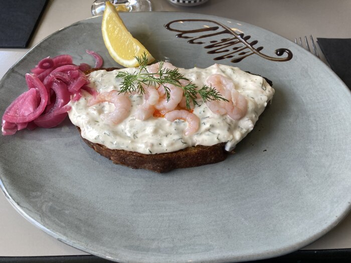
[[102, 37], [111, 57], [121, 66], [138, 67], [139, 63], [134, 57], [146, 54], [148, 63], [155, 59], [145, 47], [129, 33], [115, 7], [106, 1], [102, 17]]

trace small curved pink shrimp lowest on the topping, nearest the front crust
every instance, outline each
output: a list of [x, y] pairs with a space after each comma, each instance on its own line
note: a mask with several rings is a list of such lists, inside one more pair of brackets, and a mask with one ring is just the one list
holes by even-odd
[[186, 110], [173, 110], [164, 114], [164, 118], [168, 121], [184, 120], [188, 122], [188, 127], [184, 131], [184, 135], [192, 135], [199, 129], [200, 119], [194, 113]]

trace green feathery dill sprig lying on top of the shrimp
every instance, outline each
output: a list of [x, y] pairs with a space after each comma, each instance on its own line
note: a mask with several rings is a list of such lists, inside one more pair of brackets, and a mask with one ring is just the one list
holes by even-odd
[[[186, 98], [186, 107], [188, 109], [191, 108], [191, 103], [194, 105], [199, 105], [197, 102], [197, 94], [201, 96], [204, 102], [214, 101], [214, 100], [223, 100], [228, 101], [222, 97], [222, 95], [217, 92], [215, 88], [212, 86], [204, 85], [201, 89], [192, 83], [189, 79], [185, 78], [177, 68], [175, 69], [167, 69], [163, 68], [163, 61], [159, 62], [159, 70], [156, 73], [149, 73], [146, 69], [148, 60], [146, 57], [146, 53], [143, 53], [141, 57], [135, 57], [137, 62], [139, 63], [138, 71], [134, 71], [133, 73], [128, 72], [119, 72], [116, 76], [118, 79], [122, 79], [119, 93], [128, 93], [128, 92], [137, 92], [139, 94], [144, 94], [145, 90], [142, 85], [145, 86], [158, 86], [163, 85], [166, 100], [167, 102], [170, 99], [170, 90], [167, 85], [171, 84], [176, 87], [180, 87], [183, 89], [184, 96]], [[186, 86], [183, 86], [180, 80], [188, 81], [189, 83]]]

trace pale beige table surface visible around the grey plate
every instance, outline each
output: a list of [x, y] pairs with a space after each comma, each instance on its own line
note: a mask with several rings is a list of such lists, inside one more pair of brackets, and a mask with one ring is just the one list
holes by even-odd
[[[151, 2], [154, 11], [226, 17], [268, 29], [289, 40], [310, 34], [315, 39], [351, 38], [350, 0], [209, 0], [204, 5], [189, 8], [174, 6], [166, 0]], [[90, 18], [92, 3], [93, 0], [50, 0], [27, 49], [0, 49], [0, 78], [43, 38]], [[0, 233], [0, 256], [86, 254], [32, 225], [12, 207], [3, 193], [0, 194]], [[304, 249], [333, 248], [351, 248], [351, 214]]]

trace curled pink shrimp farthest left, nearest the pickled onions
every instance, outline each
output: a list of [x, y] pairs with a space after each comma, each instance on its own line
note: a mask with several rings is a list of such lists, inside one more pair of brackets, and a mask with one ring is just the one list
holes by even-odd
[[101, 114], [101, 119], [103, 119], [109, 125], [116, 125], [122, 122], [126, 117], [128, 117], [131, 102], [128, 96], [118, 94], [118, 91], [103, 92], [92, 98], [88, 102], [88, 107], [93, 106], [101, 102], [110, 102], [115, 106], [115, 110], [110, 113]]

